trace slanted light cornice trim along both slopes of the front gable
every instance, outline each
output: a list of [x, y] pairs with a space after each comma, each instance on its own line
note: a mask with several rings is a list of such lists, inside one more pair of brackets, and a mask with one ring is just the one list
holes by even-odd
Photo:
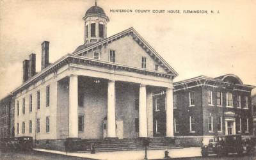
[[[93, 48], [97, 47], [98, 45], [104, 44], [104, 43], [108, 42], [109, 40], [115, 38], [116, 36], [123, 35], [123, 34], [129, 32], [129, 31], [133, 31], [133, 33], [134, 33], [136, 36], [138, 36], [138, 37], [140, 38], [140, 40], [143, 41], [143, 43], [148, 47], [148, 49], [150, 49], [150, 50], [157, 56], [157, 58], [159, 58], [159, 60], [161, 60], [161, 62], [162, 62], [164, 65], [166, 65], [166, 67], [167, 67], [170, 71], [173, 72], [174, 77], [179, 76], [179, 74], [178, 74], [178, 73], [177, 73], [177, 72], [176, 72], [176, 71], [175, 71], [175, 70], [174, 70], [174, 69], [173, 69], [173, 68], [172, 68], [172, 67], [171, 67], [171, 66], [170, 66], [170, 65], [152, 48], [152, 47], [151, 47], [151, 45], [148, 44], [148, 42], [146, 42], [146, 41], [140, 36], [140, 34], [139, 34], [134, 28], [125, 29], [124, 31], [121, 31], [120, 33], [116, 33], [115, 35], [109, 36], [108, 38], [106, 38], [106, 39], [104, 39], [104, 40], [102, 40], [102, 41], [100, 41], [100, 42], [97, 42], [97, 43], [95, 43], [95, 44], [92, 44], [92, 45], [86, 47], [85, 49], [82, 49], [82, 50], [77, 51], [77, 52], [73, 52], [72, 55], [77, 55], [77, 54], [81, 54], [81, 53], [83, 53], [83, 52], [85, 52], [85, 51], [89, 51], [90, 49], [93, 49]], [[174, 77], [173, 77], [173, 78], [174, 78]]]

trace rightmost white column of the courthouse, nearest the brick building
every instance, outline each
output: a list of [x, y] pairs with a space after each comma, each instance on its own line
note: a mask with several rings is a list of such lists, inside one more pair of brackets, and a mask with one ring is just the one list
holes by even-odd
[[166, 137], [173, 137], [173, 90], [166, 88]]

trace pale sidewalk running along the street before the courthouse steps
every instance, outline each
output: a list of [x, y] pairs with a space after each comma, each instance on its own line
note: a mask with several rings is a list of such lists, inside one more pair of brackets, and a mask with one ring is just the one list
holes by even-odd
[[[50, 152], [53, 154], [63, 154], [66, 155], [66, 152], [61, 152], [57, 150], [45, 150], [34, 148], [36, 151], [40, 152]], [[148, 159], [163, 159], [165, 150], [148, 150], [147, 157]], [[201, 155], [200, 147], [190, 147], [190, 148], [175, 148], [168, 149], [169, 156], [174, 157], [198, 157]], [[96, 154], [90, 153], [70, 153], [67, 152], [67, 156], [75, 157], [84, 157], [91, 159], [116, 159], [116, 160], [135, 160], [135, 159], [144, 159], [145, 150], [129, 150], [129, 151], [116, 151], [116, 152], [97, 152]]]

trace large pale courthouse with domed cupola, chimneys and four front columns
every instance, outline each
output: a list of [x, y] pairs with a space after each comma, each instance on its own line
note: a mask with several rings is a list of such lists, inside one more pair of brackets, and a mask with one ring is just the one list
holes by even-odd
[[[23, 61], [23, 84], [14, 90], [15, 136], [35, 140], [139, 138], [153, 129], [153, 93], [166, 93], [166, 132], [173, 137], [173, 79], [177, 72], [137, 33], [126, 29], [107, 38], [108, 16], [87, 10], [84, 44], [49, 63], [42, 43], [42, 70], [36, 54]], [[54, 53], [51, 53], [54, 54]]]

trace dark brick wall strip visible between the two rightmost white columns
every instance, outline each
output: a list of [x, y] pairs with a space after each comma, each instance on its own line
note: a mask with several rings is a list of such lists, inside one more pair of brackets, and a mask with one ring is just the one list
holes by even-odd
[[166, 95], [153, 97], [153, 136], [166, 136]]

